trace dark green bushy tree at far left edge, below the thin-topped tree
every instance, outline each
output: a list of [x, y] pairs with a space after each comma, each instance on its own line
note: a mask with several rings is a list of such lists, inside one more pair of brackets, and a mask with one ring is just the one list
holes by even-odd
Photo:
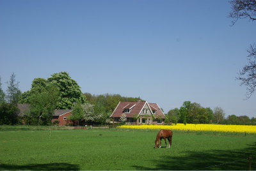
[[19, 109], [11, 103], [0, 105], [0, 124], [17, 124]]

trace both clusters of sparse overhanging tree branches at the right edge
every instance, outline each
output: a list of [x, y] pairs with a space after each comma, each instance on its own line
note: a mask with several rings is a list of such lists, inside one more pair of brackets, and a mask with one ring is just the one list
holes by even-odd
[[[232, 18], [232, 26], [238, 19], [248, 18], [249, 20], [256, 20], [256, 0], [232, 0], [230, 1], [232, 11], [228, 17]], [[250, 45], [247, 50], [249, 53], [248, 64], [240, 71], [237, 80], [241, 80], [241, 85], [246, 85], [247, 94], [246, 99], [250, 98], [256, 87], [256, 45]]]

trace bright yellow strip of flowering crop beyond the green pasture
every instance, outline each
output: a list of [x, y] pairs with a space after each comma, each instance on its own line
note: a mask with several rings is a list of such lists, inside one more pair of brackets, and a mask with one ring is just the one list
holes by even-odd
[[122, 125], [118, 128], [156, 129], [156, 130], [190, 130], [190, 131], [221, 131], [236, 133], [256, 133], [256, 126], [252, 125], [225, 125], [225, 124], [177, 124], [177, 125]]

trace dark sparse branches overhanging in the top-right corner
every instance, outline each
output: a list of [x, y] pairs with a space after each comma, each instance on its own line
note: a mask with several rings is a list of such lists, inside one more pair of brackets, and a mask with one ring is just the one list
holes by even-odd
[[248, 18], [249, 20], [256, 20], [256, 0], [232, 0], [230, 1], [232, 11], [229, 13], [232, 18], [232, 25], [238, 19]]

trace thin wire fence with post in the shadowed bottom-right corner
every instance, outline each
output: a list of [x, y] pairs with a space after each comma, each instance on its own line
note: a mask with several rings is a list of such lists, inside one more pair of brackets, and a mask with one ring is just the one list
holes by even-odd
[[[244, 170], [255, 170], [256, 169], [256, 156], [249, 156], [248, 158], [243, 158], [241, 160], [235, 160], [235, 161], [230, 161], [227, 163], [220, 163], [218, 165], [211, 165], [209, 167], [203, 167], [203, 168], [197, 168], [194, 170], [209, 170], [209, 168], [218, 168], [224, 165], [230, 165], [233, 163], [237, 163], [237, 162], [241, 162], [241, 161], [246, 161], [246, 163], [248, 163], [247, 168], [244, 168]], [[252, 165], [252, 163], [255, 162], [255, 166]], [[252, 167], [253, 166], [253, 167]]]

